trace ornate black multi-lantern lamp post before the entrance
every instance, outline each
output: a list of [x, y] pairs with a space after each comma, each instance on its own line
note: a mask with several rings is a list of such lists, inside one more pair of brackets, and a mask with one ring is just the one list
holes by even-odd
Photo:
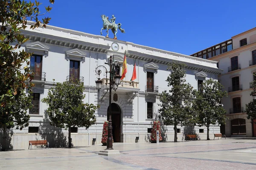
[[108, 116], [108, 140], [107, 140], [107, 150], [113, 150], [113, 138], [112, 138], [112, 111], [111, 111], [111, 90], [113, 88], [116, 91], [118, 85], [121, 82], [121, 76], [119, 75], [120, 63], [118, 61], [112, 63], [112, 56], [110, 56], [109, 63], [105, 63], [109, 65], [109, 71], [103, 65], [99, 65], [95, 71], [98, 74], [98, 80], [96, 82], [96, 88], [99, 91], [102, 88], [102, 80], [100, 79], [100, 74], [102, 71], [99, 68], [104, 68], [106, 73], [106, 83], [108, 84], [108, 73], [109, 73], [109, 116]]

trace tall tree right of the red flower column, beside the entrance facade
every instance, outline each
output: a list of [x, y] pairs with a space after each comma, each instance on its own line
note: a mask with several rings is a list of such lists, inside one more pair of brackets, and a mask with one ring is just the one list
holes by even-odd
[[165, 125], [174, 125], [174, 142], [177, 142], [177, 125], [187, 125], [192, 121], [190, 114], [192, 102], [192, 86], [186, 83], [186, 65], [179, 62], [172, 62], [168, 70], [169, 74], [166, 81], [169, 92], [166, 90], [160, 94], [160, 119]]

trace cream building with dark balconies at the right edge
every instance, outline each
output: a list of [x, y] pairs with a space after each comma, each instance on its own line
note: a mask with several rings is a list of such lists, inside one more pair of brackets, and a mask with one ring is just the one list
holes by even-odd
[[221, 101], [228, 119], [221, 126], [221, 133], [232, 137], [256, 136], [255, 120], [247, 119], [244, 113], [245, 105], [253, 100], [250, 82], [256, 79], [256, 28], [191, 56], [216, 61], [223, 70], [218, 80], [228, 92], [228, 97]]

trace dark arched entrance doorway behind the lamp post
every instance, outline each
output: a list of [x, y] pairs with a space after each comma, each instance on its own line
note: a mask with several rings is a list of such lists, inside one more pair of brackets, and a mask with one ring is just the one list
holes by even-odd
[[[114, 142], [120, 142], [121, 137], [121, 108], [116, 103], [111, 103], [112, 111], [112, 136]], [[109, 116], [109, 108], [107, 112]]]

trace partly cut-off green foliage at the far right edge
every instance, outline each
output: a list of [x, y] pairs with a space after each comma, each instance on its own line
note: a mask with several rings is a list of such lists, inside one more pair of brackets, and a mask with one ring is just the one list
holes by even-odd
[[[254, 74], [256, 76], [256, 74]], [[256, 95], [256, 80], [250, 82], [250, 86], [253, 88], [253, 91], [250, 93], [250, 96]], [[256, 119], [256, 99], [253, 99], [248, 104], [245, 105], [245, 113], [247, 113], [247, 119]]]

